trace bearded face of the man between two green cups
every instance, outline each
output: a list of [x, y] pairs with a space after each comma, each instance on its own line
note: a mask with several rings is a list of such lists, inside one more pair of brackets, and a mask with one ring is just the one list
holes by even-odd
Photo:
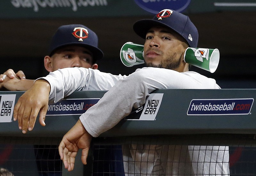
[[186, 50], [184, 39], [165, 27], [152, 27], [146, 35], [144, 59], [148, 67], [177, 70]]

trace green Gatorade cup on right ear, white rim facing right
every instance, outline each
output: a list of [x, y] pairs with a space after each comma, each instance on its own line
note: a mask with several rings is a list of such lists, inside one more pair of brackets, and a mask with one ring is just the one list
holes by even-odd
[[188, 47], [184, 61], [195, 67], [214, 73], [219, 65], [220, 52], [218, 49]]

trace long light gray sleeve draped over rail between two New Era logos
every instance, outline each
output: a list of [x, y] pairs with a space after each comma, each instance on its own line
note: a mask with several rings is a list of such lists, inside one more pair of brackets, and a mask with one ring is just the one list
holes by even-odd
[[129, 115], [132, 107], [145, 103], [156, 89], [191, 88], [213, 89], [216, 82], [195, 72], [179, 73], [164, 68], [143, 68], [119, 80], [98, 103], [88, 109], [80, 120], [85, 129], [97, 137]]

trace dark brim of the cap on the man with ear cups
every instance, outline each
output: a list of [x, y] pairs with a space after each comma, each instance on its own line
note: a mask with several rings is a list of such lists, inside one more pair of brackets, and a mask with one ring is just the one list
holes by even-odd
[[[169, 29], [172, 29], [173, 31], [177, 32], [176, 30], [174, 30], [172, 27], [165, 25], [164, 23], [162, 23], [161, 21], [156, 21], [153, 19], [142, 19], [139, 20], [137, 22], [135, 22], [133, 24], [133, 30], [134, 32], [139, 35], [141, 38], [145, 39], [146, 38], [146, 34], [148, 32], [148, 30], [153, 27], [153, 26], [164, 26], [167, 27]], [[178, 33], [178, 32], [177, 32]], [[178, 33], [179, 34], [179, 33]], [[180, 35], [180, 34], [179, 34]]]

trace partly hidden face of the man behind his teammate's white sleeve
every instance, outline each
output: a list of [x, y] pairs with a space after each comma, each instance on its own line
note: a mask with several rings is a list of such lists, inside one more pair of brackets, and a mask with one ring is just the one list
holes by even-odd
[[65, 46], [51, 57], [52, 71], [68, 67], [92, 68], [92, 63], [92, 53], [81, 46]]

